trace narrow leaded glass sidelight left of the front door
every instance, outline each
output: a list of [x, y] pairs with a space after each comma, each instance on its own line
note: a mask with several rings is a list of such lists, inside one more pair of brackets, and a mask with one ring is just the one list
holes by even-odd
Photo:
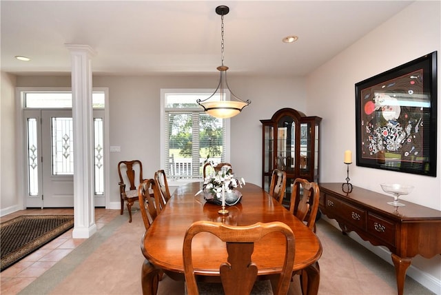
[[38, 196], [39, 160], [36, 118], [28, 118], [28, 165], [29, 195]]

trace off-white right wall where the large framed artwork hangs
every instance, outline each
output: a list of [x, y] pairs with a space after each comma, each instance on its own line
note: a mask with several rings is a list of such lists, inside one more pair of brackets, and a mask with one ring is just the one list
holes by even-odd
[[[345, 182], [347, 167], [343, 155], [345, 150], [352, 150], [354, 163], [350, 165], [349, 177], [353, 185], [383, 193], [379, 185], [382, 182], [411, 183], [415, 189], [402, 199], [441, 210], [440, 6], [440, 1], [416, 1], [307, 77], [307, 112], [316, 112], [323, 118], [321, 182]], [[356, 166], [355, 83], [435, 50], [438, 50], [438, 176]], [[391, 260], [389, 256], [387, 259]], [[418, 269], [410, 269], [408, 274], [423, 276], [424, 284], [434, 283], [433, 292], [441, 294], [441, 256], [431, 259], [417, 256], [412, 265], [425, 274]]]

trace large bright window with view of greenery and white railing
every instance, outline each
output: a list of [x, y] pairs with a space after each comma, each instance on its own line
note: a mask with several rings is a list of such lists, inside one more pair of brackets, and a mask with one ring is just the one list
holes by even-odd
[[161, 90], [161, 167], [167, 178], [201, 179], [205, 159], [229, 159], [228, 120], [205, 114], [196, 99], [210, 90]]

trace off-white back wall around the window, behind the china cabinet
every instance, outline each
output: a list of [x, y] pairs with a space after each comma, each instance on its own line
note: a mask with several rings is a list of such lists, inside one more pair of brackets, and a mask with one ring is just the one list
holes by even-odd
[[[92, 60], [93, 63], [93, 60]], [[139, 159], [143, 176], [153, 177], [160, 167], [161, 88], [215, 88], [218, 74], [198, 76], [94, 76], [94, 87], [109, 88], [110, 145], [121, 152], [110, 154], [110, 201], [119, 206], [119, 161]], [[17, 77], [17, 86], [69, 87], [70, 77]], [[229, 74], [229, 86], [251, 105], [231, 119], [231, 163], [245, 181], [261, 184], [262, 125], [280, 108], [305, 112], [306, 90], [302, 77], [243, 77]], [[309, 115], [309, 114], [308, 114]], [[314, 115], [314, 114], [310, 114]]]

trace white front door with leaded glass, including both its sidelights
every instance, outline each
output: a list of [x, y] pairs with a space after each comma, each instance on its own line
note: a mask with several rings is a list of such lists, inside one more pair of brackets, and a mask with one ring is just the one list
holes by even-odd
[[[29, 187], [26, 206], [74, 207], [72, 110], [26, 110], [25, 114], [28, 124]], [[101, 177], [103, 171], [101, 114], [103, 111], [94, 110], [95, 206], [105, 205]]]

